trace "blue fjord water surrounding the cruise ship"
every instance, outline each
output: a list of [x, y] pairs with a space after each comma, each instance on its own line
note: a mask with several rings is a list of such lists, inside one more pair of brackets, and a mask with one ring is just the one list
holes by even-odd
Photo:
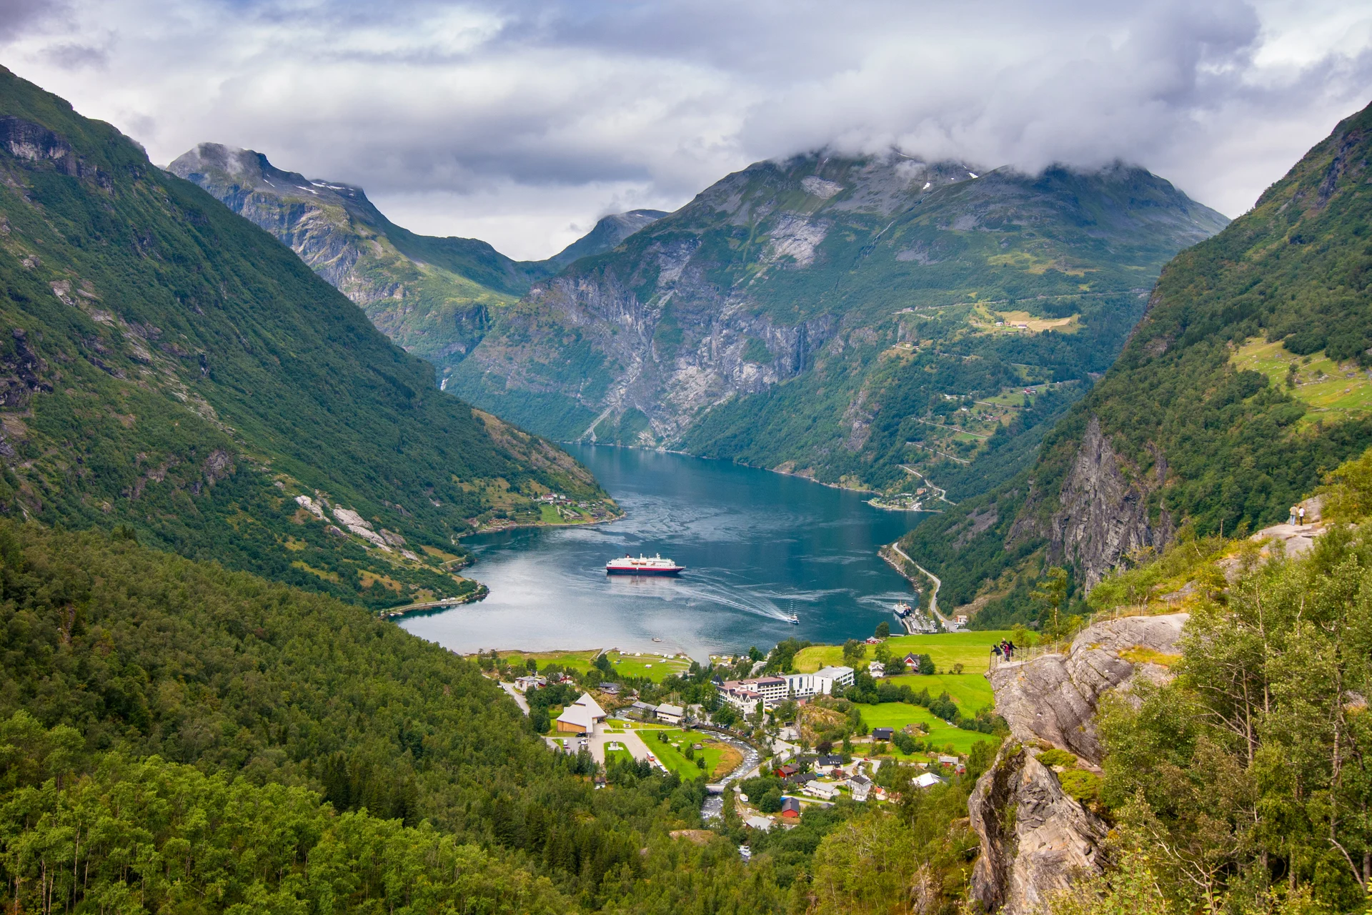
[[[402, 621], [456, 652], [590, 649], [737, 653], [796, 635], [866, 638], [912, 594], [877, 547], [923, 516], [863, 495], [679, 454], [568, 449], [626, 512], [594, 527], [527, 528], [465, 540], [484, 601]], [[626, 553], [661, 553], [679, 578], [606, 576]], [[800, 624], [786, 621], [794, 610]], [[661, 642], [653, 642], [654, 638]]]

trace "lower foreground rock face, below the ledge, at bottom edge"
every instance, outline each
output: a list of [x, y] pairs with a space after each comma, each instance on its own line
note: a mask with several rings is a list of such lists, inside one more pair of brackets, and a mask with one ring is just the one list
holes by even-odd
[[971, 892], [988, 912], [1037, 912], [1054, 892], [1102, 867], [1106, 823], [1069, 797], [1034, 754], [1007, 742], [967, 801], [981, 837]]

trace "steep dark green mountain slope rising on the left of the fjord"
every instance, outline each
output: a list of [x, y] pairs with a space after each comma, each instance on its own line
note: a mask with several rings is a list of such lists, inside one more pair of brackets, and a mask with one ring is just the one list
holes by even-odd
[[372, 606], [472, 594], [477, 527], [616, 509], [268, 233], [0, 70], [0, 512]]

